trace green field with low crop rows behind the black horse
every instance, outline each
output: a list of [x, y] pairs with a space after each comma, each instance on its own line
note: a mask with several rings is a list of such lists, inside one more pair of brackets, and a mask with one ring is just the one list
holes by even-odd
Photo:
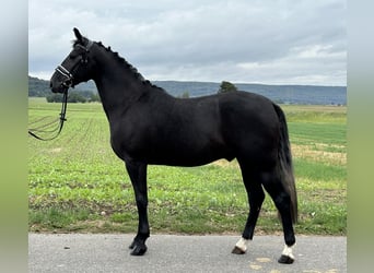
[[[347, 108], [282, 108], [299, 193], [296, 233], [346, 235]], [[56, 118], [59, 110], [59, 104], [31, 98], [28, 123]], [[136, 233], [133, 191], [124, 163], [112, 152], [102, 106], [69, 104], [67, 118], [56, 140], [28, 138], [30, 230]], [[194, 168], [150, 166], [148, 176], [152, 233], [243, 232], [248, 205], [235, 161]], [[256, 233], [281, 230], [267, 197]]]

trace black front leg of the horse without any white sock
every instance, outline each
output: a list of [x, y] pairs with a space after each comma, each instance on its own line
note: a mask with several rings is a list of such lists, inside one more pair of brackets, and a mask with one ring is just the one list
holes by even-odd
[[131, 179], [139, 215], [138, 234], [130, 245], [130, 249], [132, 249], [132, 256], [142, 256], [147, 251], [145, 240], [150, 237], [150, 226], [147, 213], [147, 164], [126, 162], [126, 169]]

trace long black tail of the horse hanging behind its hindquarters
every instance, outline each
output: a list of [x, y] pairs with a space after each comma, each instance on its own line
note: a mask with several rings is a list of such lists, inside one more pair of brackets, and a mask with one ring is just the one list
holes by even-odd
[[285, 116], [282, 109], [273, 104], [274, 109], [278, 114], [278, 118], [280, 121], [280, 140], [279, 140], [279, 175], [281, 177], [281, 181], [283, 183], [284, 189], [288, 190], [288, 193], [291, 198], [291, 217], [292, 222], [297, 222], [297, 194], [295, 187], [295, 178], [293, 176], [293, 164], [292, 164], [292, 155], [290, 150], [290, 140], [289, 140], [289, 129], [287, 127]]

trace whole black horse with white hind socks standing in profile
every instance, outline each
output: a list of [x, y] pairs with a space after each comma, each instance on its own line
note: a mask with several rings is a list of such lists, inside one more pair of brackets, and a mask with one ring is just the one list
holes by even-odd
[[272, 198], [283, 225], [285, 247], [279, 259], [292, 263], [297, 200], [288, 127], [281, 108], [264, 96], [233, 92], [190, 99], [175, 98], [145, 81], [110, 48], [74, 28], [69, 56], [50, 80], [55, 93], [93, 80], [110, 128], [110, 144], [125, 164], [135, 190], [139, 227], [131, 254], [147, 251], [147, 166], [199, 166], [236, 158], [249, 201], [249, 214], [233, 253], [253, 239], [265, 199]]

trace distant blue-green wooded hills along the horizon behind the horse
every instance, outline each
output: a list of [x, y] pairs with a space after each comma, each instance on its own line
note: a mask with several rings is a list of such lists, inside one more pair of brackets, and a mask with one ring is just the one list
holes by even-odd
[[[213, 82], [178, 82], [153, 81], [153, 84], [164, 88], [173, 96], [187, 93], [189, 97], [215, 94], [221, 83]], [[241, 91], [264, 95], [276, 103], [302, 105], [347, 105], [347, 86], [316, 86], [316, 85], [266, 85], [235, 83]], [[82, 93], [97, 93], [92, 81], [81, 83], [75, 91]], [[28, 76], [28, 96], [50, 95], [49, 82]]]

